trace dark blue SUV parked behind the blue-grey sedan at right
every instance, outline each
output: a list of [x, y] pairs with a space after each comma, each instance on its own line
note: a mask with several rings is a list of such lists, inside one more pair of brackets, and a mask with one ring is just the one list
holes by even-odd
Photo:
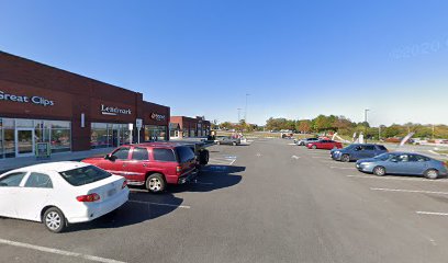
[[372, 158], [384, 152], [388, 152], [388, 149], [382, 145], [354, 144], [344, 149], [333, 149], [329, 155], [333, 160], [349, 162]]

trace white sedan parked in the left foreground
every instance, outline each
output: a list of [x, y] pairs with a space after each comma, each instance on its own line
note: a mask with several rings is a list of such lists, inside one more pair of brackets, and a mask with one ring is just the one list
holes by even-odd
[[0, 175], [0, 216], [41, 221], [52, 232], [122, 206], [130, 190], [123, 176], [81, 162], [52, 162]]

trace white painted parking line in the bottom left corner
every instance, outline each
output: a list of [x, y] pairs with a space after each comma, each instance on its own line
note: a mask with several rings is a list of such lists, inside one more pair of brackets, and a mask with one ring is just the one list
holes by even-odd
[[15, 241], [7, 240], [7, 239], [0, 239], [0, 243], [12, 245], [12, 247], [20, 247], [20, 248], [36, 250], [36, 251], [41, 251], [41, 252], [45, 252], [45, 253], [79, 258], [79, 259], [96, 261], [96, 262], [125, 263], [124, 261], [116, 261], [116, 260], [100, 258], [100, 256], [96, 256], [96, 255], [88, 255], [88, 254], [75, 253], [75, 252], [70, 252], [70, 251], [52, 249], [52, 248], [46, 248], [46, 247], [41, 247], [41, 245], [35, 245], [35, 244], [15, 242]]

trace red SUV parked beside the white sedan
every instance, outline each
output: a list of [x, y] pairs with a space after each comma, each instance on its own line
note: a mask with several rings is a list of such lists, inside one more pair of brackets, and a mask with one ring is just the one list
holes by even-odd
[[167, 184], [183, 184], [198, 173], [193, 150], [176, 144], [125, 145], [82, 162], [122, 175], [130, 185], [145, 185], [152, 193], [163, 192]]

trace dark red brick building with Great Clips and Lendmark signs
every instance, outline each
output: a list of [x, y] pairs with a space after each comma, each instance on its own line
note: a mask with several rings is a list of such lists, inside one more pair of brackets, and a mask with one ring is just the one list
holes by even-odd
[[[0, 52], [0, 159], [168, 140], [170, 108], [143, 94]], [[132, 124], [133, 129], [130, 129]]]

